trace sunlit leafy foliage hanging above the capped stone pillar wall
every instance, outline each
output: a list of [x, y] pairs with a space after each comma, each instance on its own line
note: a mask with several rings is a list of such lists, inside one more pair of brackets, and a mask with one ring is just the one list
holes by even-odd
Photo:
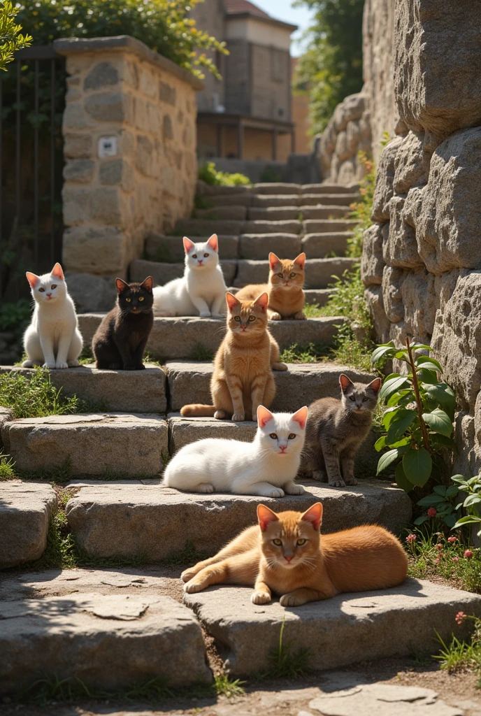
[[35, 44], [59, 37], [131, 35], [203, 77], [202, 69], [218, 75], [206, 51], [226, 53], [218, 42], [198, 29], [188, 14], [203, 0], [24, 0], [18, 19]]

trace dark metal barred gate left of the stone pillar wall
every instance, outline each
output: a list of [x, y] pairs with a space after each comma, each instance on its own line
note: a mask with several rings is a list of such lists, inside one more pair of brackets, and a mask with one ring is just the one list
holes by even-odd
[[0, 300], [28, 296], [62, 253], [64, 59], [29, 47], [0, 72]]

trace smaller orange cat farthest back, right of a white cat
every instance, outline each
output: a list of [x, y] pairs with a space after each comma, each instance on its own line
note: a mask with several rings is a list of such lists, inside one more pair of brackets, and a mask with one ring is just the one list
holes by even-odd
[[262, 291], [268, 291], [269, 306], [268, 318], [271, 321], [294, 319], [303, 321], [306, 316], [303, 314], [305, 296], [302, 290], [304, 284], [304, 265], [306, 254], [291, 259], [278, 258], [275, 253], [269, 253], [269, 283], [251, 284], [235, 294], [240, 301], [252, 301]]

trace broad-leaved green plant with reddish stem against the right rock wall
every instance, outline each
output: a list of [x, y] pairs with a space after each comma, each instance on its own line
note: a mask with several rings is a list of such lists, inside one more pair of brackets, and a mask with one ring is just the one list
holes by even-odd
[[452, 440], [455, 394], [449, 385], [437, 379], [442, 367], [436, 359], [427, 355], [416, 357], [419, 352], [430, 350], [424, 344], [411, 344], [407, 338], [406, 348], [398, 349], [389, 342], [378, 346], [372, 354], [374, 365], [387, 359], [407, 364], [407, 374], [388, 375], [379, 391], [379, 400], [387, 405], [382, 418], [386, 433], [375, 445], [378, 451], [390, 448], [379, 458], [378, 475], [401, 458], [396, 467], [396, 482], [406, 492], [424, 487], [433, 468], [434, 477], [440, 482], [444, 454], [455, 448]]

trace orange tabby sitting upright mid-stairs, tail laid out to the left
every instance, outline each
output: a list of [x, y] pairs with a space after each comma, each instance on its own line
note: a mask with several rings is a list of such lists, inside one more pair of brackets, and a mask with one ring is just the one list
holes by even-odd
[[213, 405], [184, 405], [181, 415], [201, 415], [235, 422], [257, 420], [259, 405], [270, 407], [276, 395], [273, 370], [287, 370], [279, 362], [279, 347], [267, 329], [268, 295], [239, 301], [227, 292], [227, 333], [214, 359], [210, 380]]

